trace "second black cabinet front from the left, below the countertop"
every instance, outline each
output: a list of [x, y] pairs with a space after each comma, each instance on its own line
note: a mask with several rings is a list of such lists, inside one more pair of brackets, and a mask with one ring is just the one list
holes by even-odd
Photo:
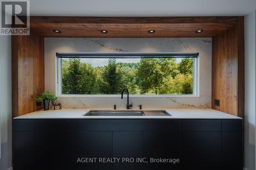
[[75, 120], [35, 120], [35, 169], [72, 169], [75, 166]]

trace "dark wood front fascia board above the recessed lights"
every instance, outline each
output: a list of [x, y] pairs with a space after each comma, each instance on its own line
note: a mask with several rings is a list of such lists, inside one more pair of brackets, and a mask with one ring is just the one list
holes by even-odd
[[238, 17], [82, 17], [82, 16], [31, 16], [31, 22], [41, 23], [223, 23], [235, 25]]

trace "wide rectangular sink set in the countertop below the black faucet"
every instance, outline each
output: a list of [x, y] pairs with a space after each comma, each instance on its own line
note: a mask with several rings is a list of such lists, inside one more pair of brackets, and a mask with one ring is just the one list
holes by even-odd
[[163, 110], [91, 110], [84, 116], [171, 116]]

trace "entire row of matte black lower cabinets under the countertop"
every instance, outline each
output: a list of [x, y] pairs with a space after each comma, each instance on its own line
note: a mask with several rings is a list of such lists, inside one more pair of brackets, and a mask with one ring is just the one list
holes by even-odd
[[14, 170], [242, 169], [242, 120], [15, 119]]

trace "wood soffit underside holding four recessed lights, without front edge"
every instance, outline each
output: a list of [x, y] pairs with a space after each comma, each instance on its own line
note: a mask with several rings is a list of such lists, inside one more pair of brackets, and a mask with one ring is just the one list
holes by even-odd
[[[84, 24], [77, 23], [34, 23], [31, 30], [45, 37], [212, 37], [224, 32], [230, 26], [217, 23], [172, 23], [172, 24]], [[56, 34], [52, 30], [60, 30]], [[203, 33], [195, 33], [203, 29]], [[108, 34], [100, 33], [108, 30]], [[148, 34], [148, 30], [156, 30]]]

